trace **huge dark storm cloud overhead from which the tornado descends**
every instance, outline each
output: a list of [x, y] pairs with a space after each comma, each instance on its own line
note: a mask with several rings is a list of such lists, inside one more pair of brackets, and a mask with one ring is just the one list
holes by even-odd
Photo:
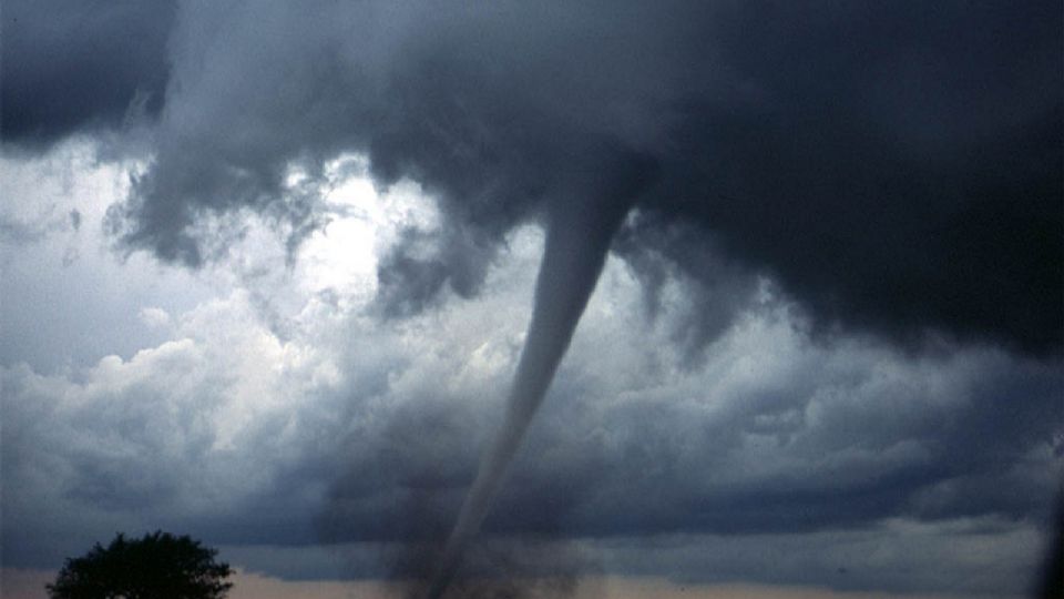
[[[101, 89], [157, 93], [158, 60], [112, 60], [164, 37], [165, 17], [147, 21], [125, 35], [79, 30], [60, 58], [117, 65], [92, 79]], [[728, 260], [777, 280], [819, 329], [908, 344], [930, 332], [1044, 354], [1064, 331], [1060, 21], [1047, 1], [188, 4], [171, 35], [156, 160], [112, 224], [132, 246], [200, 264], [205, 213], [276, 211], [293, 164], [313, 175], [323, 159], [357, 151], [382, 183], [423, 183], [483, 254], [545, 200], [582, 202], [590, 179], [621, 181], [626, 162], [604, 156], [640, 155], [658, 175], [640, 200], [648, 219], [627, 232], [633, 258], [658, 252], [699, 280], [698, 238], [712, 235]], [[50, 39], [11, 43], [53, 83], [19, 75], [4, 93], [40, 106], [70, 95], [52, 89], [71, 79], [51, 73], [73, 67]], [[86, 104], [70, 122], [127, 102], [73, 95]], [[16, 132], [70, 126], [11, 119]], [[677, 226], [690, 242], [654, 243]], [[409, 291], [393, 303], [411, 309], [444, 282], [472, 293], [485, 262], [466, 256], [397, 254], [385, 287]], [[708, 321], [695, 325], [712, 331], [720, 317]]]

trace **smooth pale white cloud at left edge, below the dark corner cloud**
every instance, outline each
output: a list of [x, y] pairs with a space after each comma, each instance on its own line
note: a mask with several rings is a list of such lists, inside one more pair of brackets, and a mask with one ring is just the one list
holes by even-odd
[[76, 227], [44, 227], [32, 240], [0, 232], [0, 364], [27, 362], [49, 373], [112, 353], [129, 358], [168, 338], [137, 317], [142, 309], [180, 314], [213, 295], [202, 277], [109, 248], [104, 214], [142, 163], [98, 162], [93, 153], [92, 144], [73, 140], [41, 158], [0, 159], [12, 200], [0, 206], [3, 219], [51, 214], [65, 223], [79, 215]]

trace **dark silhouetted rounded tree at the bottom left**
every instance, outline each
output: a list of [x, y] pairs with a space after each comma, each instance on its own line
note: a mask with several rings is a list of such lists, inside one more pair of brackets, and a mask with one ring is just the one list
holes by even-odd
[[83, 557], [66, 559], [51, 599], [222, 599], [233, 588], [228, 564], [217, 550], [187, 536], [155, 531], [126, 540], [119, 534], [106, 548], [98, 542]]

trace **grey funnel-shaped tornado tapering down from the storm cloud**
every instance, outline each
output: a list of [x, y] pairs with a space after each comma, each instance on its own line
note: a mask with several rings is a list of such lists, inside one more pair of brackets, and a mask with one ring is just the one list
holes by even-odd
[[[635, 174], [640, 169], [628, 171]], [[481, 456], [454, 528], [443, 548], [428, 599], [439, 599], [461, 564], [467, 546], [502, 487], [510, 463], [543, 403], [559, 363], [587, 305], [610, 251], [610, 242], [642, 183], [631, 177], [595, 197], [555, 201], [549, 205], [546, 243], [535, 282], [532, 319], [507, 399], [505, 416]], [[618, 189], [627, 186], [628, 189]]]

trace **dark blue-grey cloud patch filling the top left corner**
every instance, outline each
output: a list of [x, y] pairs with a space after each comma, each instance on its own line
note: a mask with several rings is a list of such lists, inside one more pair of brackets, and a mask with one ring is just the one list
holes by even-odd
[[41, 149], [86, 129], [157, 116], [175, 12], [171, 0], [4, 2], [4, 143]]

